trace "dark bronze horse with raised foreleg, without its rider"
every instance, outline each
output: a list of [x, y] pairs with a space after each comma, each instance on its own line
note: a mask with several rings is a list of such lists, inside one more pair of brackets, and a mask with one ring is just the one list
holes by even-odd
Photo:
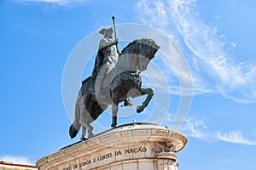
[[[112, 71], [109, 72], [108, 89], [105, 91], [106, 99], [97, 99], [95, 75], [82, 82], [75, 105], [75, 120], [69, 127], [70, 137], [73, 139], [82, 126], [82, 140], [93, 136], [93, 127], [90, 126], [108, 105], [112, 105], [112, 124], [117, 126], [118, 105], [125, 99], [135, 98], [147, 94], [143, 105], [137, 106], [137, 112], [142, 112], [147, 107], [154, 95], [152, 88], [142, 88], [141, 71], [145, 71], [149, 61], [154, 58], [160, 47], [152, 39], [138, 39], [129, 43], [119, 55], [119, 60]], [[135, 90], [134, 90], [135, 89]], [[86, 132], [87, 130], [87, 132]]]

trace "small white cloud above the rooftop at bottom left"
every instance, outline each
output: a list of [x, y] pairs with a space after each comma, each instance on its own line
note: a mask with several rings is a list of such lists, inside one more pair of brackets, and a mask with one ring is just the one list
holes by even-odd
[[0, 156], [0, 161], [10, 161], [12, 163], [32, 165], [32, 158], [28, 158], [26, 156]]

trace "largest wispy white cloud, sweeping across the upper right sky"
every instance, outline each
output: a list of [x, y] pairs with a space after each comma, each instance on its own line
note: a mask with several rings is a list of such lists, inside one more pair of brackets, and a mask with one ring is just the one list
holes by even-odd
[[[219, 93], [237, 102], [256, 101], [256, 64], [240, 62], [226, 52], [225, 35], [209, 26], [196, 10], [196, 0], [140, 0], [137, 12], [144, 24], [171, 35], [189, 61], [194, 94]], [[218, 16], [219, 17], [219, 16]]]

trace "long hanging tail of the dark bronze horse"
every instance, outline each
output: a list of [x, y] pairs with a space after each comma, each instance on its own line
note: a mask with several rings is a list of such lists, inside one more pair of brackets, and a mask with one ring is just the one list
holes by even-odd
[[79, 90], [79, 96], [75, 106], [75, 120], [73, 124], [69, 127], [69, 135], [71, 139], [76, 137], [81, 127], [81, 124], [79, 122], [79, 119], [80, 119], [79, 100], [81, 99], [81, 97], [82, 97], [82, 94], [81, 94], [81, 91]]

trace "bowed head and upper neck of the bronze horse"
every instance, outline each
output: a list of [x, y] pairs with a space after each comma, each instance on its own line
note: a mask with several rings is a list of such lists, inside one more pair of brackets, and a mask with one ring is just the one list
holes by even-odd
[[[121, 54], [129, 54], [132, 68], [134, 70], [144, 71], [147, 69], [149, 61], [154, 58], [154, 54], [160, 48], [152, 39], [137, 39], [125, 47]], [[125, 60], [126, 60], [125, 59]], [[129, 63], [126, 60], [125, 63]]]

